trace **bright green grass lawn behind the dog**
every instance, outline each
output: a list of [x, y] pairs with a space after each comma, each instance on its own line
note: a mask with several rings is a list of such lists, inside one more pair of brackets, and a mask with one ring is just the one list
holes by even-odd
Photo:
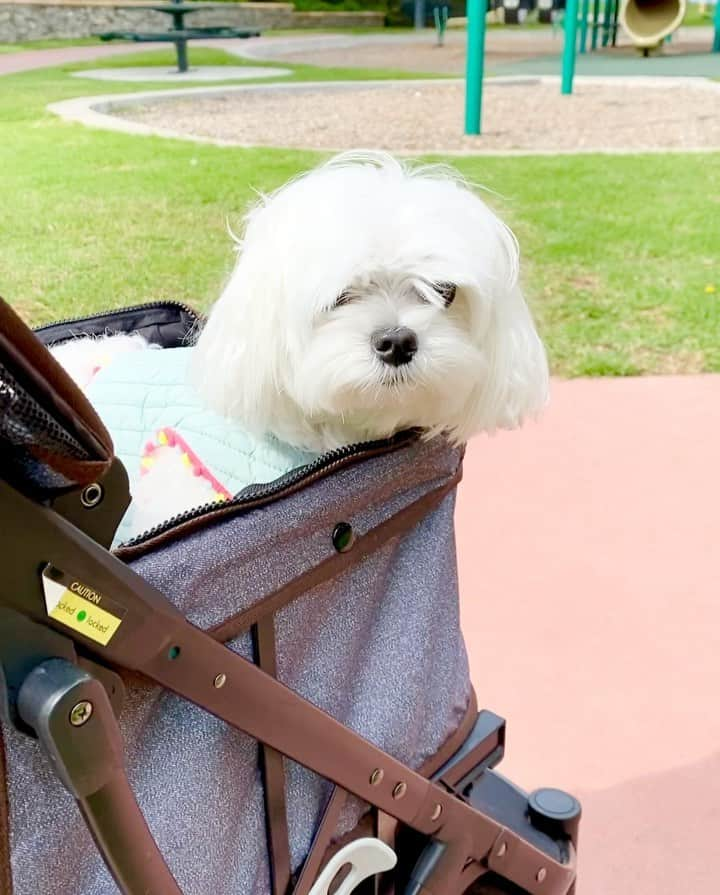
[[[227, 225], [237, 227], [255, 189], [321, 156], [62, 122], [48, 102], [143, 87], [69, 77], [79, 67], [2, 79], [0, 294], [33, 323], [163, 298], [207, 306], [233, 263]], [[292, 68], [295, 80], [393, 74]], [[555, 373], [720, 370], [720, 153], [455, 164], [503, 197], [491, 201], [520, 238]]]

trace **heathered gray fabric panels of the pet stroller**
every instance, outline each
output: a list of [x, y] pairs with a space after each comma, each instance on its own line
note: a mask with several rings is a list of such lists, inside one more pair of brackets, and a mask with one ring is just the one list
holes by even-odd
[[[131, 561], [196, 625], [260, 603], [452, 482], [442, 439], [364, 459], [250, 511], [159, 542]], [[460, 633], [454, 490], [421, 521], [275, 615], [283, 683], [413, 768], [459, 726], [470, 699]], [[252, 658], [248, 633], [229, 647]], [[268, 895], [257, 743], [171, 693], [132, 681], [121, 715], [131, 783], [184, 895]], [[14, 895], [114, 895], [75, 803], [34, 741], [4, 729]], [[330, 784], [286, 760], [293, 866], [306, 856]], [[366, 810], [350, 799], [337, 830]], [[3, 893], [5, 895], [5, 893]]]

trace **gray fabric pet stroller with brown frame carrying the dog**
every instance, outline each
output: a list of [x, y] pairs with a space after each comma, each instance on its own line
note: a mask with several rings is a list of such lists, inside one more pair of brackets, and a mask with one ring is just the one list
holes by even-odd
[[573, 892], [578, 803], [492, 770], [470, 687], [461, 451], [333, 451], [109, 549], [127, 474], [42, 343], [195, 324], [0, 302], [2, 895]]

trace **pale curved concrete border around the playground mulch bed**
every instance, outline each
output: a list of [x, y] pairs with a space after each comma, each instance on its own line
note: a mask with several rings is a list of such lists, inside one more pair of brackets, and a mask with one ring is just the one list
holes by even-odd
[[[651, 87], [663, 90], [673, 90], [683, 87], [693, 87], [708, 92], [720, 93], [720, 82], [710, 81], [707, 78], [697, 77], [593, 77], [579, 76], [575, 79], [578, 84], [613, 86], [617, 88], [623, 87]], [[165, 137], [174, 140], [186, 140], [192, 143], [209, 143], [213, 146], [235, 146], [239, 148], [250, 148], [251, 146], [259, 146], [264, 144], [258, 143], [242, 143], [234, 140], [221, 140], [214, 137], [204, 137], [181, 133], [169, 128], [152, 127], [147, 124], [141, 124], [137, 121], [129, 121], [124, 118], [118, 118], [113, 115], [113, 109], [123, 108], [137, 104], [152, 101], [153, 103], [164, 102], [167, 100], [177, 99], [185, 96], [212, 96], [217, 94], [238, 93], [241, 91], [266, 91], [266, 90], [357, 90], [367, 89], [368, 87], [377, 88], [378, 90], [387, 89], [396, 86], [413, 86], [427, 84], [447, 84], [462, 83], [462, 78], [423, 78], [423, 79], [402, 79], [387, 81], [293, 81], [292, 83], [273, 82], [272, 84], [237, 84], [225, 85], [218, 87], [191, 87], [179, 90], [151, 90], [137, 93], [116, 93], [101, 96], [81, 96], [75, 99], [62, 100], [61, 102], [51, 103], [47, 108], [48, 111], [55, 115], [59, 115], [66, 121], [75, 121], [84, 124], [87, 127], [97, 127], [104, 130], [120, 131], [122, 133], [137, 134], [142, 136]], [[513, 75], [488, 79], [488, 83], [493, 86], [502, 86], [508, 84], [552, 84], [559, 85], [560, 78], [555, 76], [526, 76]], [[458, 125], [459, 126], [459, 125]], [[283, 147], [277, 147], [282, 149]], [[287, 147], [285, 147], [287, 148]], [[537, 155], [650, 155], [662, 153], [699, 153], [705, 154], [709, 152], [717, 152], [719, 147], [678, 147], [677, 149], [667, 148], [646, 148], [638, 149], [636, 147], [627, 148], [582, 148], [582, 149], [448, 149], [448, 150], [417, 150], [414, 152], [396, 151], [397, 155], [486, 155], [486, 156], [537, 156]], [[319, 152], [316, 146], [293, 147], [299, 152], [310, 151]], [[329, 150], [328, 150], [329, 151]]]

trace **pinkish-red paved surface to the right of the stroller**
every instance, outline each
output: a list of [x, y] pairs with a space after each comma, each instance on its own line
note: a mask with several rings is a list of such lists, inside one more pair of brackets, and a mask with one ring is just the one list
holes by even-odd
[[720, 891], [720, 376], [557, 382], [477, 439], [464, 628], [500, 771], [583, 802], [579, 895]]

